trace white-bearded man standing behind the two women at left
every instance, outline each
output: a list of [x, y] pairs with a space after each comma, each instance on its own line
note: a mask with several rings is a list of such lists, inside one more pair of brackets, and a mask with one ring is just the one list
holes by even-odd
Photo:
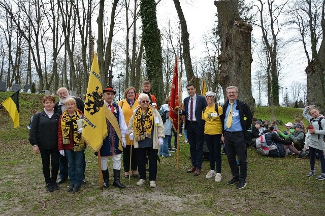
[[[54, 112], [62, 115], [62, 113], [67, 109], [66, 100], [68, 98], [71, 98], [72, 96], [69, 95], [69, 91], [62, 87], [57, 90], [57, 95], [59, 97], [59, 101], [54, 105]], [[80, 109], [82, 112], [84, 112], [85, 104], [82, 100], [78, 98], [74, 98], [76, 100], [77, 108]], [[82, 184], [85, 184], [85, 168], [86, 168], [86, 161], [84, 160], [83, 164], [83, 178], [82, 178]], [[57, 184], [62, 184], [67, 181], [68, 179], [68, 160], [65, 156], [60, 155], [59, 159], [59, 180], [57, 181]]]

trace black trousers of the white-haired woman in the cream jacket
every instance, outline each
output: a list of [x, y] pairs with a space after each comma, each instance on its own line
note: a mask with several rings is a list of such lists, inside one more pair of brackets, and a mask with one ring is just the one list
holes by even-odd
[[138, 171], [140, 179], [147, 179], [146, 156], [149, 158], [149, 180], [156, 181], [157, 177], [157, 154], [158, 150], [152, 147], [136, 148], [138, 159]]

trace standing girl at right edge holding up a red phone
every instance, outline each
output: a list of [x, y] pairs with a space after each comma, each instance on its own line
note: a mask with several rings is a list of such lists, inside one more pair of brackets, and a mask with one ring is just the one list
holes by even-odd
[[315, 154], [318, 154], [321, 174], [316, 178], [317, 180], [325, 180], [325, 159], [323, 154], [324, 149], [324, 134], [325, 131], [325, 118], [320, 115], [319, 110], [314, 106], [307, 106], [303, 111], [303, 116], [310, 122], [308, 129], [308, 139], [306, 144], [309, 145], [310, 154], [310, 172], [307, 174], [308, 177], [315, 175]]

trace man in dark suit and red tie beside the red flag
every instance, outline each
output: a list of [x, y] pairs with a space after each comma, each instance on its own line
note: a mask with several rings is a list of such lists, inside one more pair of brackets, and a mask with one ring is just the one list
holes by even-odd
[[[202, 111], [207, 106], [207, 102], [203, 96], [196, 94], [197, 89], [193, 83], [188, 83], [186, 90], [189, 97], [184, 99], [184, 110], [179, 110], [179, 114], [185, 115], [184, 127], [187, 129], [191, 154], [192, 168], [187, 170], [187, 173], [194, 172], [194, 176], [199, 176], [203, 163], [204, 123]], [[178, 111], [178, 107], [175, 107], [175, 111]]]

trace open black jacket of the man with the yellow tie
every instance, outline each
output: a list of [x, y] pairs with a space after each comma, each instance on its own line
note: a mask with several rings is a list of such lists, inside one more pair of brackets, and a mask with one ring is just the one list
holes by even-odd
[[[228, 104], [229, 104], [229, 100], [227, 100], [222, 106], [224, 115], [226, 114], [225, 111], [228, 107]], [[248, 104], [246, 104], [245, 102], [242, 102], [238, 99], [237, 99], [236, 110], [239, 111], [240, 124], [242, 125], [245, 139], [246, 139], [247, 143], [250, 145], [253, 141], [251, 140], [247, 130], [249, 129], [249, 127], [252, 123], [252, 120], [253, 120], [252, 112], [250, 111], [250, 107], [248, 106]], [[223, 123], [225, 124], [226, 122], [224, 122], [224, 120], [225, 119], [223, 119]], [[224, 127], [222, 127], [222, 134], [223, 133], [224, 133]]]

